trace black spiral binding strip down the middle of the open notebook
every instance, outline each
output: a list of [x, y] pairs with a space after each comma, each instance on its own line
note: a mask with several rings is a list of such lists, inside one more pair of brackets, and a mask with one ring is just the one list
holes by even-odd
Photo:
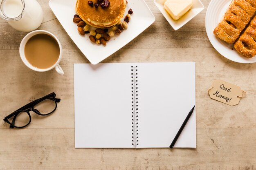
[[131, 66], [132, 73], [132, 145], [139, 145], [139, 123], [138, 123], [138, 66]]

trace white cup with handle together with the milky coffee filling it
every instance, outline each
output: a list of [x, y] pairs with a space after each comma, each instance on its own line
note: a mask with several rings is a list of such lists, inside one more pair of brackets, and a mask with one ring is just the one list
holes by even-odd
[[61, 43], [48, 31], [32, 31], [20, 43], [20, 57], [25, 65], [34, 71], [48, 71], [55, 68], [63, 75], [64, 72], [58, 65], [61, 55]]

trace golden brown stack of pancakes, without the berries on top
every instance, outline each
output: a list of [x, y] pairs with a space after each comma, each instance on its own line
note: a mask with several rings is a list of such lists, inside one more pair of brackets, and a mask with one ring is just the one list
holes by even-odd
[[76, 13], [79, 17], [97, 28], [107, 28], [117, 24], [124, 16], [126, 0], [110, 0], [106, 8], [95, 8], [88, 4], [88, 0], [76, 1]]

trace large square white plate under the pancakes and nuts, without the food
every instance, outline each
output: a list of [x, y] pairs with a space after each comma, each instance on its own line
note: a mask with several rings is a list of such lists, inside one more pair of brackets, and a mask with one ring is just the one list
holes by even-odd
[[73, 22], [74, 14], [76, 14], [76, 0], [50, 0], [49, 6], [67, 34], [82, 51], [85, 57], [87, 57], [92, 64], [98, 64], [128, 44], [128, 42], [137, 37], [155, 21], [153, 13], [150, 11], [144, 0], [127, 1], [128, 4], [124, 15], [128, 13], [130, 8], [133, 11], [130, 22], [128, 23], [128, 29], [122, 31], [120, 35], [111, 37], [106, 46], [92, 43], [89, 39], [90, 34], [82, 36], [78, 33], [77, 25]]

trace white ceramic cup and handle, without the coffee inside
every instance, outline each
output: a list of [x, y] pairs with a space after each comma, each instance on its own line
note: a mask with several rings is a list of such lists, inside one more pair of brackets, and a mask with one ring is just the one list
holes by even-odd
[[[27, 43], [27, 41], [29, 40], [29, 38], [31, 38], [32, 36], [36, 35], [36, 34], [47, 34], [47, 35], [50, 35], [52, 36], [57, 42], [58, 42], [58, 46], [60, 48], [60, 55], [58, 57], [58, 60], [57, 62], [49, 67], [49, 68], [45, 68], [45, 69], [40, 69], [40, 68], [37, 68], [37, 67], [34, 67], [32, 66], [26, 59], [25, 57], [25, 45]], [[20, 58], [22, 60], [22, 62], [24, 62], [24, 64], [30, 68], [31, 70], [34, 70], [34, 71], [39, 71], [39, 72], [44, 72], [44, 71], [49, 71], [49, 70], [52, 70], [53, 68], [55, 68], [55, 70], [57, 71], [57, 73], [59, 73], [60, 75], [63, 75], [64, 72], [61, 68], [61, 66], [59, 65], [59, 62], [61, 61], [61, 57], [62, 57], [62, 46], [61, 46], [61, 42], [58, 40], [58, 38], [56, 38], [55, 35], [53, 35], [52, 33], [48, 32], [48, 31], [44, 31], [44, 30], [36, 30], [36, 31], [32, 31], [30, 33], [28, 33], [21, 41], [20, 43]]]

